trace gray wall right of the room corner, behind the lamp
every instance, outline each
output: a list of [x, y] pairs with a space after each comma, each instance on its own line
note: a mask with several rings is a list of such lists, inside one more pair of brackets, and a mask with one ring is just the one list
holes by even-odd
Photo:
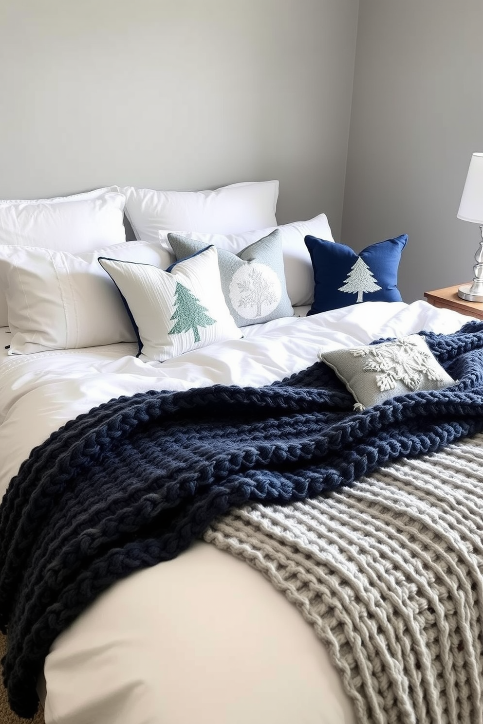
[[361, 0], [341, 240], [407, 232], [406, 301], [471, 279], [479, 227], [456, 219], [483, 151], [482, 0]]

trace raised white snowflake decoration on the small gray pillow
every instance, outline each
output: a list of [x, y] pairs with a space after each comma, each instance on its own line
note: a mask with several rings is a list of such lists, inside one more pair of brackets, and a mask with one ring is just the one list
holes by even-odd
[[350, 353], [354, 357], [368, 357], [363, 369], [379, 372], [376, 383], [381, 392], [394, 390], [398, 380], [410, 390], [417, 390], [424, 375], [431, 380], [444, 381], [432, 354], [421, 350], [417, 341], [397, 340], [374, 347], [357, 348], [350, 350]]

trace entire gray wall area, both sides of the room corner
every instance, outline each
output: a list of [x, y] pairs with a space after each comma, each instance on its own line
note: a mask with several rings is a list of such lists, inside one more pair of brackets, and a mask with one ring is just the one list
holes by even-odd
[[0, 198], [278, 178], [281, 223], [407, 232], [421, 298], [472, 274], [482, 27], [482, 0], [0, 0]]

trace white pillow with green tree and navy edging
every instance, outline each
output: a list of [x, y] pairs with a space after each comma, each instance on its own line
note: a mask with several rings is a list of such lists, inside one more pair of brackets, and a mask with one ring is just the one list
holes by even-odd
[[99, 258], [137, 327], [141, 358], [162, 362], [189, 350], [242, 337], [224, 301], [217, 250], [209, 246], [163, 271]]

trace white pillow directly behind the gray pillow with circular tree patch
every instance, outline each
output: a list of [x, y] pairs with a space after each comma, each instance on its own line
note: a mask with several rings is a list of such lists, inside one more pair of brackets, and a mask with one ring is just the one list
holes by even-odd
[[[334, 241], [325, 214], [314, 216], [314, 219], [309, 219], [307, 222], [283, 224], [279, 227], [248, 231], [243, 234], [200, 234], [194, 231], [172, 233], [193, 239], [193, 241], [200, 241], [206, 246], [214, 244], [219, 249], [238, 254], [246, 246], [268, 236], [275, 228], [280, 230], [285, 281], [290, 302], [293, 307], [311, 304], [314, 301], [314, 269], [304, 238], [311, 235], [326, 241]], [[166, 251], [172, 252], [168, 233], [159, 231], [159, 242]]]

